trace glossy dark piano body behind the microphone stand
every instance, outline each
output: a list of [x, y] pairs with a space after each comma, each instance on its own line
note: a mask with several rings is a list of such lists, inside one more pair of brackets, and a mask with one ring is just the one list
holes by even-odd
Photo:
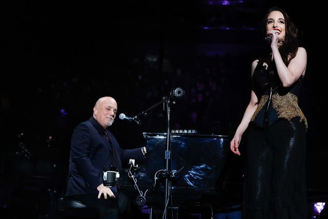
[[[144, 133], [144, 137], [147, 158], [134, 172], [137, 186], [143, 194], [154, 182], [155, 173], [166, 168], [167, 133]], [[226, 135], [171, 133], [171, 170], [178, 171], [183, 167], [177, 177], [170, 181], [170, 194], [175, 205], [201, 195], [217, 193], [229, 145]], [[123, 172], [120, 177], [124, 191], [134, 189], [128, 174]], [[160, 178], [155, 187], [147, 192], [146, 203], [149, 204], [149, 200], [161, 203], [164, 198], [165, 180]]]

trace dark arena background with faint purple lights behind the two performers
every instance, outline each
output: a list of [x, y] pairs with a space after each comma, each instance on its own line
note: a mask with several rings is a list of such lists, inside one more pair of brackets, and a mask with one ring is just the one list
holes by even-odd
[[[10, 203], [11, 191], [22, 182], [14, 172], [48, 179], [40, 184], [63, 190], [71, 133], [92, 116], [101, 96], [116, 99], [118, 114], [134, 116], [181, 87], [185, 96], [171, 106], [172, 129], [233, 136], [250, 98], [251, 63], [270, 51], [260, 29], [270, 6], [291, 16], [308, 52], [299, 98], [309, 123], [308, 186], [326, 191], [323, 7], [299, 1], [228, 3], [5, 3], [2, 206]], [[140, 117], [141, 126], [116, 118], [111, 131], [121, 147], [144, 144], [143, 132], [166, 132], [162, 108]], [[242, 161], [236, 159], [240, 168]]]

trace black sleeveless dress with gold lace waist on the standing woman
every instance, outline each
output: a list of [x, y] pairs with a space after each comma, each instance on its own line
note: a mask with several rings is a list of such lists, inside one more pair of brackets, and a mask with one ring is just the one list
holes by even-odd
[[270, 58], [259, 59], [252, 76], [258, 107], [248, 129], [243, 218], [308, 218], [308, 124], [297, 103], [302, 82], [303, 76], [284, 88]]

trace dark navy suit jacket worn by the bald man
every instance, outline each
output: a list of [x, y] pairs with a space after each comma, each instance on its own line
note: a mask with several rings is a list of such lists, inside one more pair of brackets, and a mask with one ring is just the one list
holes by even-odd
[[[106, 130], [114, 146], [119, 169], [122, 168], [121, 161], [136, 161], [144, 159], [141, 148], [122, 149], [114, 135]], [[104, 134], [105, 129], [91, 117], [88, 121], [77, 125], [71, 137], [71, 151], [69, 160], [69, 172], [67, 179], [66, 195], [75, 194], [98, 194], [97, 187], [103, 183], [103, 167], [106, 170], [110, 166], [116, 166], [111, 153], [111, 146]], [[117, 188], [112, 187], [114, 195]]]

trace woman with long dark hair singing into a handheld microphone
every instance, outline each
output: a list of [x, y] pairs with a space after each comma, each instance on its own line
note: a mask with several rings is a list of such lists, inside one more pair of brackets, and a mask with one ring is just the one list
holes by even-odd
[[271, 53], [252, 63], [251, 101], [230, 143], [248, 128], [244, 218], [307, 218], [306, 118], [298, 106], [306, 50], [298, 47], [297, 28], [288, 14], [271, 8], [263, 18]]

